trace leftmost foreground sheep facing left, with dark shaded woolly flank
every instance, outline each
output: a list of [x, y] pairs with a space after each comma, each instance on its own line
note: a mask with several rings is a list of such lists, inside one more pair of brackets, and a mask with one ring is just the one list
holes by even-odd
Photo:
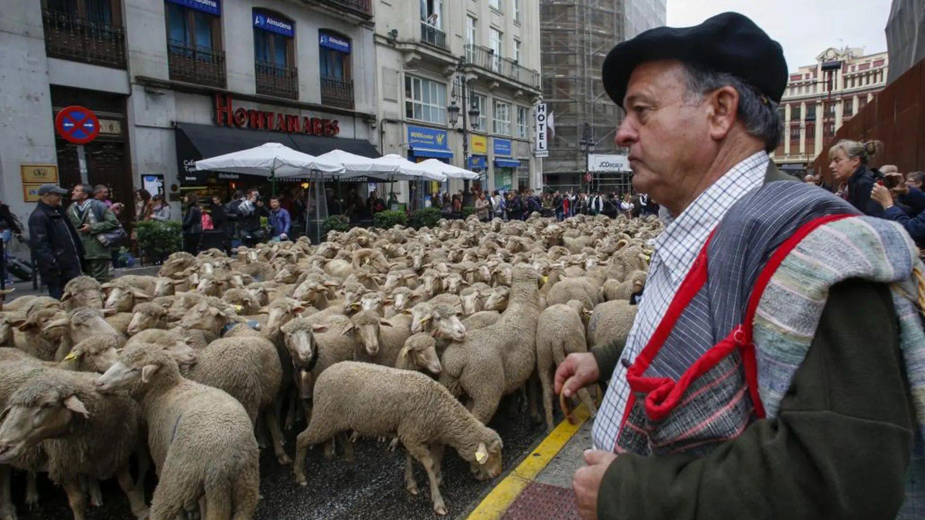
[[86, 497], [80, 476], [117, 477], [132, 514], [146, 518], [144, 491], [129, 473], [138, 441], [139, 406], [124, 393], [101, 395], [98, 374], [41, 369], [12, 393], [0, 424], [0, 464], [9, 464], [41, 442], [48, 475], [68, 493], [75, 518]]

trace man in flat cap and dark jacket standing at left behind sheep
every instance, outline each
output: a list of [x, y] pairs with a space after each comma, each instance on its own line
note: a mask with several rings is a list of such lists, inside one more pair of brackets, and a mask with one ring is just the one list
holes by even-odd
[[67, 189], [43, 184], [29, 217], [29, 246], [35, 268], [48, 286], [48, 294], [58, 299], [68, 281], [80, 276], [83, 261], [80, 236], [61, 209], [61, 196], [67, 194]]

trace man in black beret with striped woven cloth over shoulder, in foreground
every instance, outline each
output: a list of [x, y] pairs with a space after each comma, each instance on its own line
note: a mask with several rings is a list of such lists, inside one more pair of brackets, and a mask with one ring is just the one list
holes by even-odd
[[610, 381], [582, 516], [921, 518], [925, 266], [894, 223], [771, 163], [781, 46], [724, 13], [616, 45], [602, 78], [666, 226], [625, 343], [556, 373], [566, 396]]

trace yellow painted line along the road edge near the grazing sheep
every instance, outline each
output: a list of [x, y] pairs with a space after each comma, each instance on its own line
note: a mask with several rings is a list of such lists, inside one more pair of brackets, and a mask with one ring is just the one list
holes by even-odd
[[578, 419], [576, 424], [569, 424], [569, 421], [563, 420], [536, 446], [536, 450], [526, 456], [524, 462], [515, 467], [488, 493], [466, 520], [499, 520], [590, 417], [584, 404], [575, 408], [573, 415]]

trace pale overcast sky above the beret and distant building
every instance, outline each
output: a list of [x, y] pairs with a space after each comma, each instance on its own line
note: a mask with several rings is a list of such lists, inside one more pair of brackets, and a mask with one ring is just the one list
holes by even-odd
[[781, 42], [790, 71], [815, 63], [829, 47], [886, 51], [891, 0], [668, 0], [668, 25], [697, 25], [724, 11], [755, 20]]

